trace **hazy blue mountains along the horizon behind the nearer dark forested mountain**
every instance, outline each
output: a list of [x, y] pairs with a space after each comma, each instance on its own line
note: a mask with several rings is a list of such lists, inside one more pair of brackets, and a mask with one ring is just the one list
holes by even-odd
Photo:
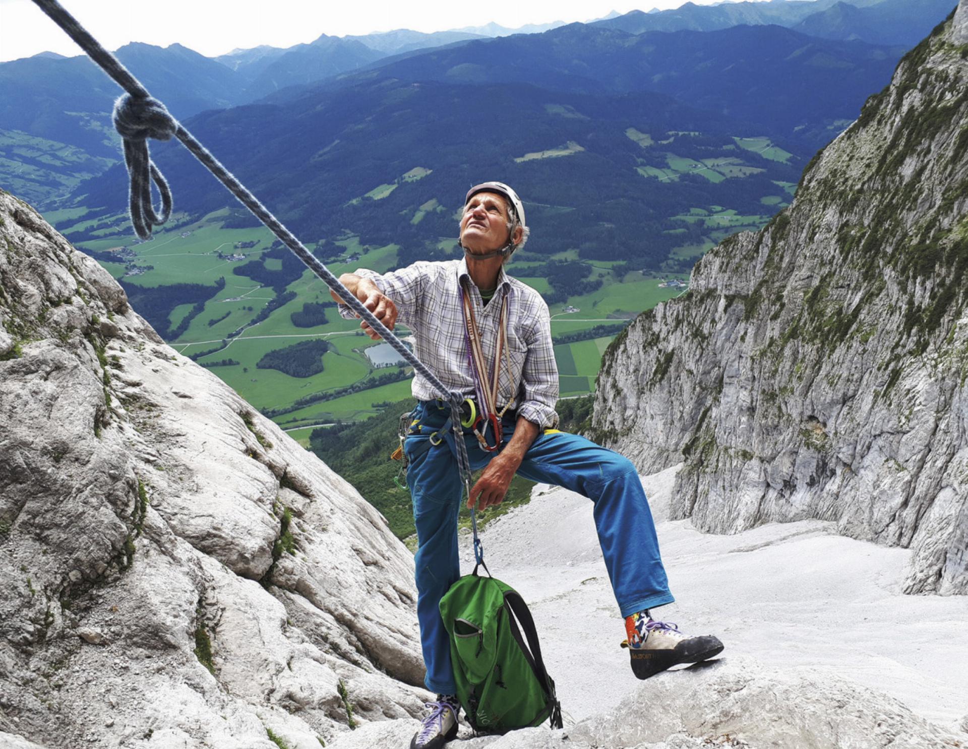
[[[763, 135], [796, 138], [811, 150], [856, 115], [863, 99], [887, 81], [903, 40], [921, 38], [950, 2], [686, 3], [676, 11], [634, 11], [543, 33], [523, 32], [559, 24], [322, 35], [307, 45], [238, 49], [217, 58], [182, 45], [131, 44], [117, 53], [180, 119], [387, 76], [516, 81], [574, 93], [666, 93], [756, 126]], [[881, 39], [892, 45], [859, 42]], [[85, 57], [42, 53], [0, 64], [0, 183], [43, 204], [102, 171], [105, 160], [118, 158], [110, 125], [117, 93]], [[67, 159], [58, 155], [67, 153]]]

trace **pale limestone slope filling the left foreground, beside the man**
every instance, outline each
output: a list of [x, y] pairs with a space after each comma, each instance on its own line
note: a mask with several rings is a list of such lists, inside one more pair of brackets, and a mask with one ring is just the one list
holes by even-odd
[[417, 715], [412, 580], [347, 482], [0, 192], [0, 744], [318, 749]]

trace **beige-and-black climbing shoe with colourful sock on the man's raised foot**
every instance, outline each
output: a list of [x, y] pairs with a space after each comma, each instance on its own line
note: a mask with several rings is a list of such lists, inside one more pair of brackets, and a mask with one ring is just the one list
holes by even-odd
[[649, 611], [625, 617], [622, 647], [628, 648], [632, 659], [632, 673], [649, 678], [681, 663], [699, 663], [722, 652], [718, 638], [688, 637], [675, 624], [655, 621]]

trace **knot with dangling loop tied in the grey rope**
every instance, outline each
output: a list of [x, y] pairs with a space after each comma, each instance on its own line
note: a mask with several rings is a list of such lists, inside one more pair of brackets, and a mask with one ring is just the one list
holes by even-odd
[[[166, 106], [150, 96], [125, 94], [114, 103], [114, 128], [124, 138], [124, 161], [131, 186], [128, 191], [131, 223], [140, 239], [149, 239], [153, 226], [165, 224], [171, 215], [171, 189], [148, 154], [148, 138], [168, 140], [177, 135], [178, 121]], [[162, 197], [161, 213], [151, 204], [151, 181]]]

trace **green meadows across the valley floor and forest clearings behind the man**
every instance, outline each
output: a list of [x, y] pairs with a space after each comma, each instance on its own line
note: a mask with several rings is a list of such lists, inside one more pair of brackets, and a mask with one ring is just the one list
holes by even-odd
[[[638, 173], [646, 179], [669, 183], [681, 179], [705, 179], [710, 183], [744, 179], [764, 172], [764, 166], [771, 161], [785, 164], [791, 158], [766, 137], [734, 138], [734, 144], [720, 149], [722, 155], [690, 158], [675, 153], [681, 144], [686, 147], [681, 138], [689, 134], [650, 135], [630, 129], [625, 135], [641, 146], [644, 157], [648, 155], [635, 167]], [[670, 150], [662, 151], [663, 147]], [[531, 164], [574, 158], [583, 150], [570, 141], [550, 144], [547, 150], [529, 152], [519, 161]], [[415, 166], [350, 202], [380, 201], [429, 173], [429, 169]], [[765, 225], [796, 192], [796, 185], [790, 182], [772, 180], [769, 184], [768, 194], [759, 198], [761, 213], [742, 215], [729, 206], [705, 205], [669, 216], [667, 225], [672, 227], [664, 233], [677, 240], [681, 236], [681, 244], [669, 253], [668, 273], [630, 270], [624, 260], [583, 259], [577, 249], [556, 255], [523, 254], [512, 262], [508, 267], [511, 275], [546, 296], [556, 295], [549, 309], [552, 334], [557, 339], [599, 325], [611, 326], [610, 335], [555, 346], [562, 396], [594, 391], [602, 352], [621, 323], [684, 292], [682, 287], [665, 285], [674, 279], [688, 282], [687, 273], [673, 272], [681, 271], [683, 262], [698, 259], [736, 231]], [[419, 205], [414, 203], [404, 216], [416, 225], [428, 214], [446, 210], [438, 197], [432, 197]], [[95, 215], [78, 207], [52, 211], [45, 218], [78, 247], [94, 254], [114, 278], [129, 285], [129, 295], [136, 289], [145, 289], [146, 296], [139, 296], [162, 305], [152, 320], [156, 327], [167, 325], [170, 345], [209, 367], [284, 428], [296, 430], [290, 433], [296, 438], [306, 442], [311, 431], [307, 428], [312, 425], [364, 419], [377, 413], [382, 404], [408, 397], [408, 371], [400, 370], [396, 363], [377, 366], [368, 358], [367, 349], [375, 342], [362, 335], [357, 321], [344, 320], [337, 314], [328, 288], [311, 271], [300, 272], [291, 260], [283, 259], [285, 252], [272, 251], [275, 237], [268, 229], [227, 226], [230, 221], [238, 224], [238, 209], [224, 208], [201, 219], [175, 215], [148, 242], [133, 237], [123, 214], [88, 218]], [[648, 242], [648, 237], [643, 241]], [[435, 237], [432, 243], [439, 250], [459, 256], [454, 237]], [[320, 238], [307, 247], [336, 275], [358, 267], [385, 272], [400, 264], [397, 245], [369, 246], [350, 231]], [[549, 263], [564, 262], [589, 266], [584, 281], [600, 285], [594, 290], [572, 293], [561, 301], [566, 292], [558, 293], [555, 284], [559, 282], [547, 277], [545, 271]], [[236, 272], [242, 268], [248, 268], [246, 275]], [[589, 287], [588, 283], [573, 286], [579, 291]], [[159, 293], [166, 288], [172, 289], [169, 302], [166, 294]], [[204, 297], [202, 303], [198, 303], [198, 294]], [[279, 298], [282, 294], [287, 295], [285, 299]], [[297, 325], [296, 321], [306, 324], [307, 319], [319, 319], [306, 318], [307, 304], [314, 305], [311, 309], [317, 311], [322, 305], [324, 321], [312, 327]], [[147, 314], [143, 308], [140, 311]], [[271, 369], [266, 362], [271, 362], [272, 357], [263, 359], [274, 351], [310, 341], [324, 341], [328, 348], [321, 356], [314, 354], [318, 358], [312, 367], [299, 371], [313, 373], [308, 376]], [[276, 361], [279, 356], [285, 359], [288, 355], [287, 351], [277, 354]], [[259, 367], [260, 362], [265, 366]]]

